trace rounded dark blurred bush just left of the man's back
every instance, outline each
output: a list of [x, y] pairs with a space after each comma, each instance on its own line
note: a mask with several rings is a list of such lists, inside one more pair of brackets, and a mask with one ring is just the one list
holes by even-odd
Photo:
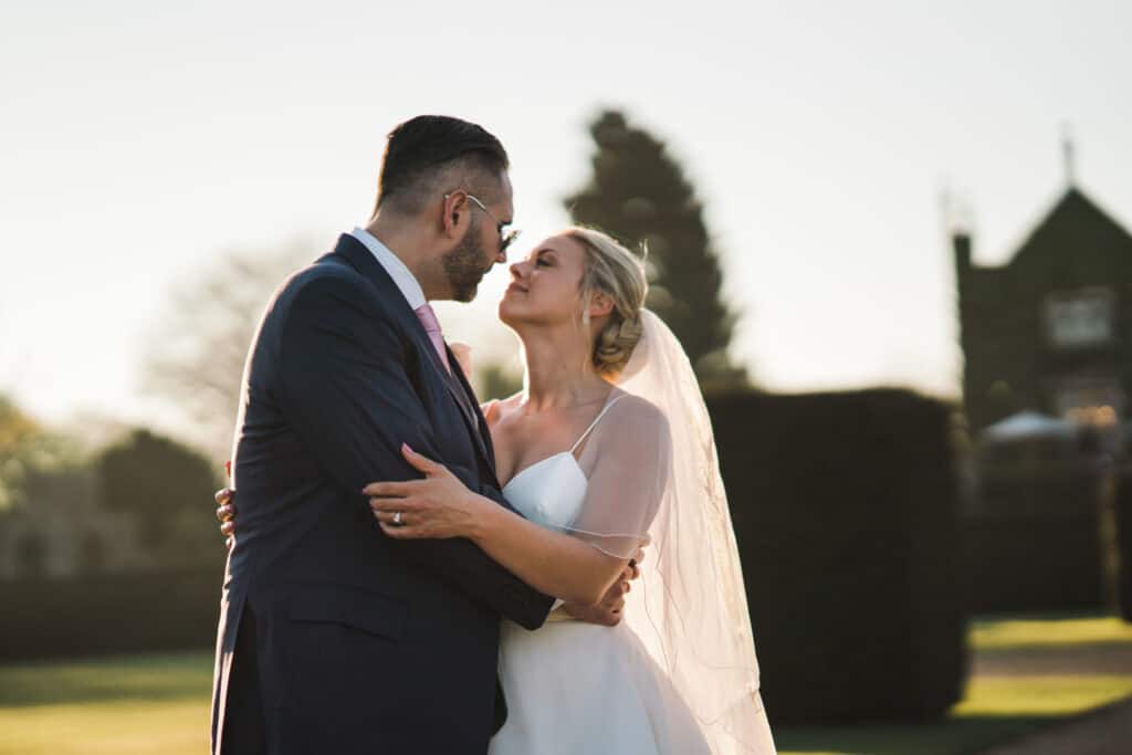
[[175, 440], [137, 429], [96, 463], [101, 505], [129, 512], [142, 548], [165, 566], [212, 560], [217, 552], [208, 503], [220, 487], [216, 466]]

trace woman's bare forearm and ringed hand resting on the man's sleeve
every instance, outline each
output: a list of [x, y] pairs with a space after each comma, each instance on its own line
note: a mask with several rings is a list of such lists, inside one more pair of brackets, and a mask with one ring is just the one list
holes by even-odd
[[[623, 575], [617, 558], [572, 535], [524, 520], [463, 486], [444, 465], [403, 449], [426, 479], [366, 487], [370, 507], [391, 538], [468, 538], [535, 590], [569, 603], [593, 604]], [[400, 512], [403, 525], [394, 524]]]

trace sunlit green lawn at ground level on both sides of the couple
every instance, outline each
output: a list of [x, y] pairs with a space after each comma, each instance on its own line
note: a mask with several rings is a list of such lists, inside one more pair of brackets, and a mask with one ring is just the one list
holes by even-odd
[[[972, 623], [977, 653], [1132, 644], [1098, 617]], [[211, 653], [149, 654], [0, 667], [0, 754], [207, 752]], [[979, 677], [941, 722], [782, 728], [783, 755], [957, 755], [1132, 695], [1132, 675]], [[772, 710], [773, 713], [773, 710]]]

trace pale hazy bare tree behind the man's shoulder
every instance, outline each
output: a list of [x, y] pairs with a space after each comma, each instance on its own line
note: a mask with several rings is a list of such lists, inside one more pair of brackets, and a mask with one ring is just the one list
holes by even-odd
[[310, 246], [298, 241], [273, 252], [230, 251], [173, 292], [151, 337], [147, 389], [194, 423], [194, 443], [216, 461], [231, 449], [243, 362], [264, 307], [310, 258]]

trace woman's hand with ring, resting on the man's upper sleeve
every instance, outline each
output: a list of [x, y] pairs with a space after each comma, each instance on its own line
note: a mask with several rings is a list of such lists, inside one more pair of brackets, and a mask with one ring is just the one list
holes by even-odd
[[402, 540], [468, 537], [480, 517], [483, 499], [444, 464], [421, 456], [405, 444], [401, 445], [401, 453], [424, 479], [370, 482], [362, 488], [381, 530]]

